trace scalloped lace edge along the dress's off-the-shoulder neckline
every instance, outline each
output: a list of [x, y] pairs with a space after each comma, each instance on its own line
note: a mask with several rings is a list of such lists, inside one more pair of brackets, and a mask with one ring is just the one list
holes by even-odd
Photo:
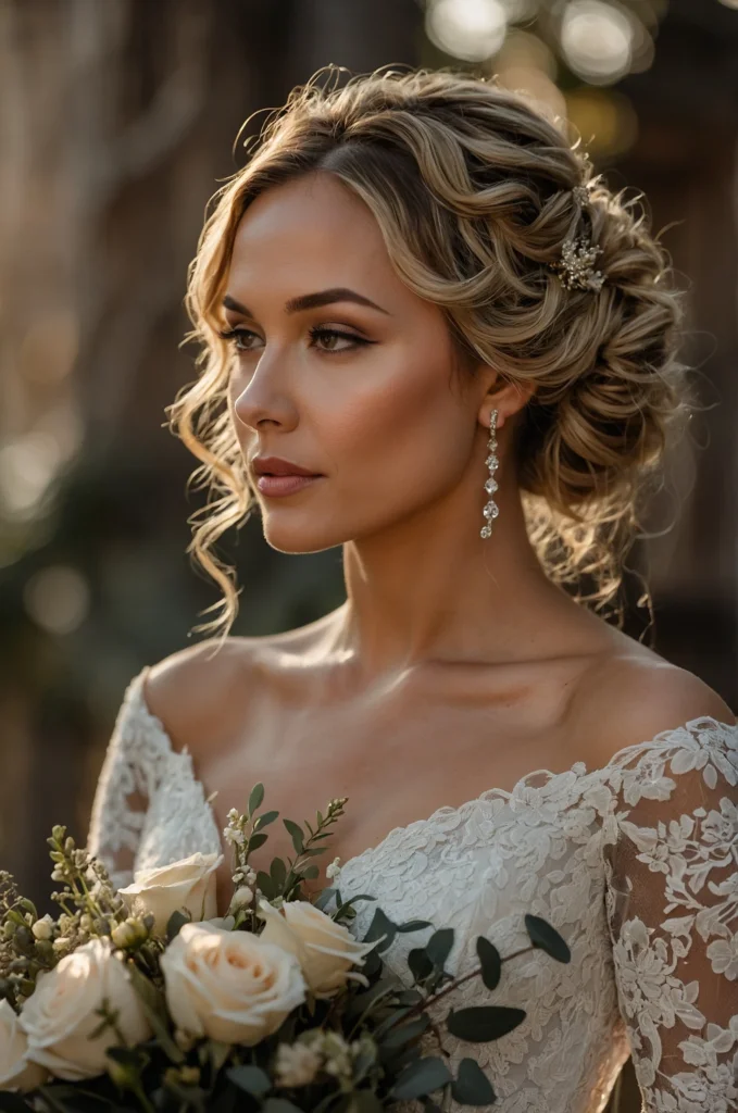
[[[139, 713], [142, 715], [159, 733], [160, 740], [165, 747], [166, 752], [170, 757], [180, 758], [184, 761], [186, 761], [187, 768], [189, 770], [190, 776], [193, 777], [193, 780], [196, 784], [199, 784], [200, 788], [203, 789], [203, 798], [205, 801], [205, 806], [208, 808], [210, 812], [210, 817], [214, 821], [215, 828], [218, 831], [218, 839], [220, 841], [222, 850], [225, 853], [223, 838], [218, 829], [218, 824], [215, 817], [215, 812], [210, 804], [216, 792], [210, 792], [209, 795], [206, 796], [207, 788], [195, 774], [195, 770], [193, 768], [191, 755], [189, 754], [187, 746], [184, 746], [180, 750], [175, 749], [174, 742], [169, 736], [169, 732], [167, 731], [166, 726], [164, 725], [161, 719], [159, 719], [159, 717], [156, 716], [150, 710], [146, 701], [144, 687], [147, 673], [150, 668], [151, 667], [148, 664], [145, 666], [144, 669], [141, 669], [141, 671], [137, 673], [137, 676], [135, 676], [134, 679], [130, 681], [128, 686], [127, 701], [128, 702], [131, 700], [136, 701], [137, 710], [139, 711]], [[341, 871], [342, 874], [345, 874], [347, 871], [348, 866], [356, 866], [356, 864], [360, 860], [364, 858], [374, 857], [381, 850], [387, 849], [391, 846], [393, 846], [398, 837], [404, 837], [405, 835], [415, 834], [421, 828], [427, 825], [432, 825], [436, 819], [441, 819], [442, 817], [449, 818], [451, 816], [464, 819], [469, 815], [469, 812], [474, 807], [478, 807], [482, 801], [492, 800], [494, 798], [512, 801], [515, 798], [521, 797], [525, 789], [531, 789], [531, 788], [552, 789], [555, 786], [561, 786], [567, 784], [568, 780], [571, 784], [573, 784], [574, 781], [583, 781], [584, 778], [593, 778], [597, 774], [607, 774], [608, 770], [614, 771], [616, 769], [626, 766], [629, 758], [639, 750], [647, 749], [649, 747], [660, 748], [667, 746], [669, 740], [673, 739], [675, 736], [682, 735], [683, 732], [687, 732], [687, 735], [689, 735], [692, 728], [695, 727], [699, 728], [699, 726], [702, 723], [706, 725], [708, 729], [718, 727], [718, 728], [728, 728], [729, 730], [736, 731], [737, 748], [738, 748], [738, 717], [734, 722], [727, 722], [725, 719], [717, 719], [715, 716], [711, 715], [696, 716], [693, 719], [687, 719], [685, 722], [679, 723], [677, 727], [667, 727], [663, 730], [658, 731], [656, 735], [653, 735], [652, 738], [644, 739], [641, 742], [633, 742], [629, 746], [623, 746], [621, 749], [617, 750], [603, 766], [599, 766], [593, 769], [588, 769], [587, 764], [580, 760], [580, 761], [574, 761], [569, 769], [561, 770], [560, 772], [552, 772], [550, 769], [533, 769], [530, 772], [523, 774], [523, 776], [515, 781], [515, 784], [511, 789], [491, 787], [484, 789], [482, 792], [480, 792], [479, 796], [475, 796], [473, 799], [464, 800], [462, 804], [457, 806], [452, 806], [446, 804], [441, 805], [441, 807], [436, 808], [429, 816], [424, 816], [420, 819], [413, 819], [407, 824], [402, 824], [397, 827], [393, 827], [374, 846], [366, 847], [364, 850], [361, 850], [352, 858], [346, 859], [346, 861], [343, 863], [341, 866]], [[535, 778], [541, 778], [541, 784], [532, 784], [532, 781]]]

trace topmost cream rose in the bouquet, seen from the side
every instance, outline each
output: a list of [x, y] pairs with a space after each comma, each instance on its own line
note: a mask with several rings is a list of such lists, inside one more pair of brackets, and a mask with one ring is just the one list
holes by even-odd
[[223, 855], [191, 854], [156, 869], [139, 869], [120, 896], [131, 915], [154, 913], [154, 930], [164, 935], [173, 912], [187, 909], [194, 920], [210, 919], [217, 913], [215, 871]]

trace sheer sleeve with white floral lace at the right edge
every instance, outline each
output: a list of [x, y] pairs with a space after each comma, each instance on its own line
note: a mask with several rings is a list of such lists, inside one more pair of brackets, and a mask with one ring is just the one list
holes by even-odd
[[738, 1109], [738, 725], [622, 751], [606, 838], [620, 1012], [647, 1113]]

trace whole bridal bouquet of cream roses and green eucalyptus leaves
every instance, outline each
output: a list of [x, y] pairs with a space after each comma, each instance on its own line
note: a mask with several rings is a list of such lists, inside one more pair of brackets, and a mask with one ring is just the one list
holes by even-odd
[[[494, 991], [505, 959], [479, 936], [479, 967], [454, 979], [444, 969], [454, 932], [441, 927], [410, 951], [410, 977], [398, 979], [382, 954], [398, 933], [433, 924], [395, 924], [376, 908], [360, 940], [353, 905], [373, 896], [343, 900], [329, 887], [304, 899], [303, 880], [318, 874], [311, 859], [324, 853], [346, 798], [318, 811], [315, 829], [305, 823], [308, 834], [283, 819], [296, 856], [274, 858], [268, 874], [248, 863], [278, 817], [257, 815], [263, 799], [258, 784], [246, 812], [229, 812], [235, 893], [222, 917], [223, 855], [194, 854], [116, 890], [104, 865], [57, 826], [48, 840], [61, 886], [56, 919], [39, 917], [0, 873], [0, 1110], [378, 1113], [420, 1099], [439, 1113], [431, 1095], [494, 1102], [473, 1056], [454, 1075], [429, 1007], [470, 977]], [[525, 926], [531, 947], [569, 962], [545, 920], [527, 916]], [[524, 1016], [491, 1004], [451, 1008], [444, 1026], [473, 1047]], [[423, 1054], [421, 1042], [440, 1054]]]

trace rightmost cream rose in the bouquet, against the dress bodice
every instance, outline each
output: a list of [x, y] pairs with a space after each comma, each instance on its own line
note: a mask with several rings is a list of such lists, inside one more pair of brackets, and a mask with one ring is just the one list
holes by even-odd
[[315, 997], [334, 996], [352, 977], [351, 967], [363, 965], [364, 955], [378, 943], [357, 942], [347, 927], [308, 900], [287, 900], [277, 909], [262, 899], [257, 915], [266, 920], [259, 939], [297, 956]]

